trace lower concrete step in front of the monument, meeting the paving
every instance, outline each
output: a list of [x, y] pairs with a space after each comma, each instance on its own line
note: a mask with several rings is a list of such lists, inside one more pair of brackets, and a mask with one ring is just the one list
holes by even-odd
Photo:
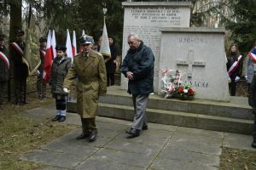
[[[71, 108], [69, 103], [68, 108]], [[73, 103], [74, 106], [74, 103]], [[76, 111], [76, 108], [73, 108]], [[99, 104], [99, 116], [107, 116], [125, 120], [132, 120], [134, 111], [132, 106]], [[223, 116], [208, 116], [182, 111], [163, 111], [147, 109], [148, 122], [175, 125], [181, 127], [194, 127], [214, 131], [250, 134], [253, 121]]]

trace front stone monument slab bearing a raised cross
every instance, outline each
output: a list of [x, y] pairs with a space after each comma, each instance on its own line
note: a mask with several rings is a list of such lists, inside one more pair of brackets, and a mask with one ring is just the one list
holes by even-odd
[[[224, 28], [160, 28], [160, 31], [160, 69], [180, 70], [183, 83], [195, 88], [195, 99], [229, 101]], [[160, 94], [160, 79], [158, 83]]]

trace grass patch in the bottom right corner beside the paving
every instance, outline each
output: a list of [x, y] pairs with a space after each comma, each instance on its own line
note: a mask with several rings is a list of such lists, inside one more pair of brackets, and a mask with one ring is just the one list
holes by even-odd
[[254, 170], [256, 169], [256, 152], [253, 150], [236, 150], [224, 148], [220, 156], [219, 170]]

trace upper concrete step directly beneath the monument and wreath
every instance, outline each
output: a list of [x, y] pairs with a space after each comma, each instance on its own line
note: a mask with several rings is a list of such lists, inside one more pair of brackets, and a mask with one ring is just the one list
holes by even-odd
[[[101, 103], [132, 106], [131, 95], [119, 87], [108, 88], [108, 94], [100, 98]], [[164, 111], [183, 111], [209, 116], [224, 116], [252, 120], [252, 108], [247, 104], [247, 98], [231, 97], [230, 102], [212, 100], [181, 100], [164, 99], [159, 95], [150, 95], [148, 107]]]

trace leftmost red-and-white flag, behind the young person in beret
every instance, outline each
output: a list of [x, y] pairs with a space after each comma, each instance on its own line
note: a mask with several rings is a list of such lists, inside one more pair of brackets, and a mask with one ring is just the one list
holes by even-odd
[[50, 67], [52, 64], [52, 59], [53, 59], [53, 53], [51, 49], [51, 37], [50, 37], [50, 30], [47, 36], [47, 43], [46, 43], [46, 54], [44, 57], [44, 73], [43, 73], [43, 78], [45, 82], [49, 82], [49, 72], [50, 72]]

